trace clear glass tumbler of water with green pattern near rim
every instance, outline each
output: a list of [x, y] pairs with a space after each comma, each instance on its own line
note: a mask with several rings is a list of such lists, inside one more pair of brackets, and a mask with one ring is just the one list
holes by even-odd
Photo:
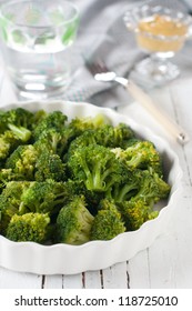
[[11, 0], [0, 7], [1, 47], [8, 73], [24, 98], [49, 98], [70, 83], [68, 48], [78, 9], [63, 0]]

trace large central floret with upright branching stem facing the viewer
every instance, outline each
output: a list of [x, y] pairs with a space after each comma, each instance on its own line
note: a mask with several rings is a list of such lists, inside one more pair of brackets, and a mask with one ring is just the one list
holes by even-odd
[[73, 179], [83, 181], [88, 190], [94, 191], [107, 191], [122, 173], [114, 153], [99, 144], [77, 149], [67, 164]]

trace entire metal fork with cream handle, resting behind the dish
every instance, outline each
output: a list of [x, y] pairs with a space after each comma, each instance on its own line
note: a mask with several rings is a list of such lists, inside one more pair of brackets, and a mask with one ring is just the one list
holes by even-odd
[[117, 82], [123, 86], [131, 97], [144, 107], [144, 109], [146, 109], [148, 112], [159, 121], [159, 123], [166, 129], [168, 133], [171, 133], [179, 143], [185, 144], [189, 141], [186, 132], [165, 116], [160, 108], [156, 107], [152, 98], [133, 81], [125, 79], [124, 77], [119, 77], [114, 71], [110, 70], [102, 60], [87, 60], [85, 64], [97, 81]]

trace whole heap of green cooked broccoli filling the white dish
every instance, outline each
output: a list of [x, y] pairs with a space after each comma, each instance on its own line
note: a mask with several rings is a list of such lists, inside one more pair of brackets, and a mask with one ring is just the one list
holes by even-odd
[[103, 114], [0, 111], [0, 234], [82, 244], [137, 230], [170, 193], [154, 144]]

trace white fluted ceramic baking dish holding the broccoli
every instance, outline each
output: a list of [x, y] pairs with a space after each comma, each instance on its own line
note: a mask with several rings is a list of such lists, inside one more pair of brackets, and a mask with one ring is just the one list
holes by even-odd
[[[21, 102], [4, 106], [11, 109]], [[75, 274], [83, 271], [100, 270], [114, 263], [133, 258], [139, 251], [150, 247], [166, 231], [172, 213], [176, 208], [176, 198], [181, 191], [182, 170], [175, 152], [166, 141], [152, 133], [134, 120], [108, 108], [98, 108], [84, 102], [50, 101], [22, 102], [31, 111], [44, 109], [50, 112], [60, 110], [69, 117], [88, 117], [103, 113], [113, 126], [120, 122], [129, 124], [137, 134], [152, 141], [163, 157], [164, 172], [171, 184], [171, 193], [163, 203], [156, 219], [146, 221], [137, 231], [119, 234], [110, 241], [90, 241], [82, 245], [53, 244], [41, 245], [34, 242], [13, 242], [0, 235], [0, 265], [22, 272], [40, 274]]]

